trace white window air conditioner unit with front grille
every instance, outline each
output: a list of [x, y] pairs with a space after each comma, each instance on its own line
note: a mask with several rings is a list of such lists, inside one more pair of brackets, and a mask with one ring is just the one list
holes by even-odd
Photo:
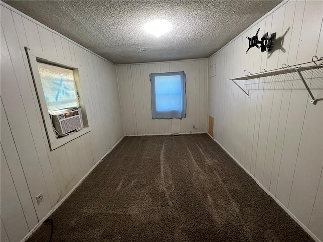
[[67, 135], [82, 127], [82, 120], [78, 110], [57, 112], [51, 115], [52, 125], [59, 136]]

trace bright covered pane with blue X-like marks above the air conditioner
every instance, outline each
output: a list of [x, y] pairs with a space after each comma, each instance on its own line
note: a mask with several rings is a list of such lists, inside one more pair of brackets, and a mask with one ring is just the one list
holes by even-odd
[[73, 70], [37, 64], [48, 112], [79, 107]]

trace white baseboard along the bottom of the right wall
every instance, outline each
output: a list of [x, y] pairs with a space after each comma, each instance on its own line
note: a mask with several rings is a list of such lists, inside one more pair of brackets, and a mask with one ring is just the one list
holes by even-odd
[[228, 155], [248, 174], [254, 179], [254, 181], [259, 185], [260, 188], [262, 188], [263, 191], [265, 191], [269, 196], [271, 196], [272, 199], [275, 200], [275, 202], [282, 208], [284, 211], [295, 220], [295, 222], [302, 227], [302, 229], [305, 230], [306, 233], [308, 233], [309, 236], [311, 236], [316, 242], [322, 242], [319, 238], [317, 238], [301, 221], [297, 219], [297, 217], [292, 214], [291, 211], [288, 210], [270, 191], [268, 191], [246, 168], [244, 168], [236, 158], [234, 158], [216, 139], [214, 139], [209, 133], [207, 133], [217, 144], [225, 151]]

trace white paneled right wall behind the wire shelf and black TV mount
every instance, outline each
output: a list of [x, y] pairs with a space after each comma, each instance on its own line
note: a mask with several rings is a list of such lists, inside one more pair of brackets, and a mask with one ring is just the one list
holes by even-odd
[[[297, 74], [238, 81], [250, 98], [228, 79], [323, 56], [322, 10], [322, 1], [281, 5], [209, 58], [208, 84], [214, 139], [317, 240], [323, 240], [323, 101], [310, 103]], [[276, 32], [270, 55], [257, 48], [245, 54], [245, 36], [258, 28], [259, 36]], [[323, 71], [303, 74], [323, 98]]]

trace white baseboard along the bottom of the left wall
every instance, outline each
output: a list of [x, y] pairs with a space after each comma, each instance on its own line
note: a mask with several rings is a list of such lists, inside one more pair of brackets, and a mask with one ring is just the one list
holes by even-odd
[[[125, 136], [123, 136], [125, 137]], [[39, 221], [39, 223], [32, 229], [30, 230], [30, 232], [21, 240], [21, 242], [25, 242], [39, 227], [40, 225], [43, 224], [43, 222], [56, 210], [58, 209], [58, 207], [61, 206], [61, 204], [74, 192], [74, 190], [81, 185], [81, 183], [83, 182], [83, 180], [95, 169], [95, 167], [105, 158], [105, 156], [107, 156], [107, 154], [109, 154], [113, 148], [115, 148], [119, 142], [123, 139], [123, 137], [121, 137], [121, 139], [108, 151], [106, 152], [106, 154], [83, 176], [83, 178], [72, 188], [72, 190], [70, 192], [68, 192], [68, 194], [65, 195], [64, 198], [62, 198], [62, 200], [56, 204], [50, 211], [49, 213], [47, 213], [47, 215], [41, 219]]]

